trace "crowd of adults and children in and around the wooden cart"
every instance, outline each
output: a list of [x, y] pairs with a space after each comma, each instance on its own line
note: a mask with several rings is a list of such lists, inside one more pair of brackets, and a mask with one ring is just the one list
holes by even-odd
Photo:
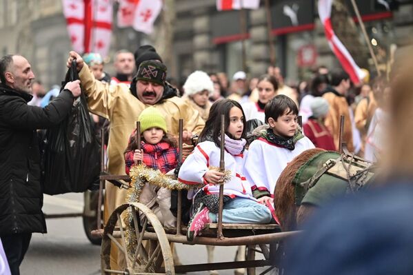
[[[0, 59], [0, 237], [12, 274], [19, 274], [32, 233], [46, 233], [36, 131], [57, 125], [81, 90], [94, 121], [110, 133], [106, 163], [110, 174], [129, 174], [134, 165], [143, 163], [164, 174], [176, 170], [182, 183], [205, 184], [188, 193], [193, 201], [188, 240], [198, 236], [206, 223], [217, 221], [217, 194], [224, 180], [224, 223], [276, 223], [272, 205], [279, 174], [305, 150], [339, 150], [342, 115], [342, 137], [350, 152], [370, 161], [381, 153], [390, 94], [383, 77], [372, 84], [364, 79], [354, 87], [343, 70], [321, 66], [309, 81], [289, 87], [280, 68], [270, 66], [265, 74], [250, 79], [245, 72], [236, 72], [232, 81], [222, 72], [197, 70], [176, 87], [167, 81], [168, 68], [151, 45], [134, 53], [118, 51], [114, 77], [105, 72], [97, 53], [82, 57], [70, 52], [68, 67], [73, 59], [80, 81], [69, 82], [62, 92], [53, 87], [47, 93], [40, 81], [34, 81], [24, 57]], [[212, 168], [219, 167], [220, 114], [225, 114], [227, 179]], [[183, 119], [182, 165], [177, 151], [179, 119]], [[136, 121], [141, 121], [138, 133]], [[248, 128], [250, 121], [259, 127]], [[105, 190], [106, 221], [125, 203], [126, 191], [111, 183]], [[170, 196], [163, 188], [145, 185], [143, 190], [142, 200], [157, 209], [165, 226], [176, 222]], [[123, 266], [124, 261], [123, 252], [112, 246], [111, 266]]]

